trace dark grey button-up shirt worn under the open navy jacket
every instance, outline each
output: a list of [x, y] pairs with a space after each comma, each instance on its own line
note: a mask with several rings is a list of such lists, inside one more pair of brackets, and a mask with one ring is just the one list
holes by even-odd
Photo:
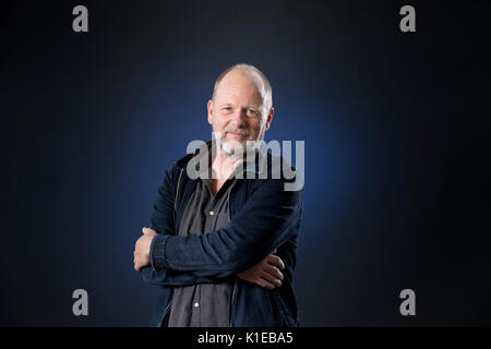
[[[228, 202], [236, 179], [228, 179], [214, 196], [211, 179], [197, 179], [179, 226], [179, 236], [203, 234], [226, 227]], [[175, 287], [169, 327], [228, 326], [229, 281]]]

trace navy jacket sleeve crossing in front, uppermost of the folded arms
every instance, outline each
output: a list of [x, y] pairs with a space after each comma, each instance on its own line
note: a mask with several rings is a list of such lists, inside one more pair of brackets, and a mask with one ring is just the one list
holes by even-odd
[[217, 278], [259, 263], [298, 232], [303, 190], [285, 191], [285, 182], [261, 180], [225, 228], [200, 236], [156, 236], [151, 250], [154, 272], [191, 272]]

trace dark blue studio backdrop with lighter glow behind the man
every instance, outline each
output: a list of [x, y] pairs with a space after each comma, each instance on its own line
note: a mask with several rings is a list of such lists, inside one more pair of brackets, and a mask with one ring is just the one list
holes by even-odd
[[302, 325], [490, 325], [488, 3], [412, 1], [412, 34], [403, 1], [8, 5], [0, 324], [148, 324], [134, 241], [166, 168], [211, 137], [216, 76], [248, 62], [274, 88], [266, 139], [306, 141]]

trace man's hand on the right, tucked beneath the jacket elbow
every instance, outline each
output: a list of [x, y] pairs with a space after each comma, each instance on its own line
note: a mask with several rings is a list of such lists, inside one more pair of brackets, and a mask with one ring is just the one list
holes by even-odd
[[267, 257], [250, 267], [249, 269], [237, 274], [237, 276], [246, 281], [256, 284], [270, 290], [282, 286], [283, 274], [279, 269], [285, 268], [282, 258], [274, 255], [273, 251]]

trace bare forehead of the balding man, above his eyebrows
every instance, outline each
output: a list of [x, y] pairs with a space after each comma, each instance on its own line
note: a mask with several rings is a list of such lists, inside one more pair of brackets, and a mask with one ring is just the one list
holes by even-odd
[[231, 71], [218, 83], [216, 99], [219, 103], [262, 103], [262, 95], [258, 81], [250, 74], [241, 71]]

